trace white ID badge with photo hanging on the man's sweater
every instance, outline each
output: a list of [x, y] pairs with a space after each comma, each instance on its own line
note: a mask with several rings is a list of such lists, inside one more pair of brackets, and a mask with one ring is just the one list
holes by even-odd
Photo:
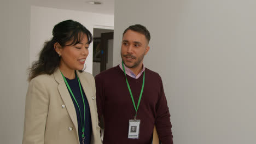
[[139, 124], [141, 124], [141, 120], [139, 120], [139, 119], [129, 120], [128, 139], [138, 139], [139, 138]]

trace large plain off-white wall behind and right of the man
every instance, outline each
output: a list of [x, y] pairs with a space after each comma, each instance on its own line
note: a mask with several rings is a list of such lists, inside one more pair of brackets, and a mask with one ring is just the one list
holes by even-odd
[[[121, 34], [152, 34], [146, 67], [164, 82], [174, 143], [256, 143], [256, 1], [115, 1], [114, 65]], [[131, 10], [132, 9], [132, 10]]]

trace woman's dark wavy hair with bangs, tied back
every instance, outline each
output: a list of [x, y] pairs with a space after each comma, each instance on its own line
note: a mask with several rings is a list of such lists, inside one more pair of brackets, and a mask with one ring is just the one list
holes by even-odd
[[[34, 61], [28, 68], [28, 81], [41, 74], [53, 74], [60, 64], [60, 57], [54, 49], [54, 44], [63, 46], [78, 44], [83, 39], [83, 34], [87, 35], [88, 44], [92, 41], [92, 34], [81, 23], [73, 20], [66, 20], [58, 23], [53, 28], [53, 38], [44, 43], [43, 49], [39, 53], [38, 61]], [[68, 41], [72, 43], [66, 45]]]

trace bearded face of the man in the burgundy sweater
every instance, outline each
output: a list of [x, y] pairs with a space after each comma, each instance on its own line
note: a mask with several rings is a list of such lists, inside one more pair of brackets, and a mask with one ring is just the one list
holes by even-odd
[[148, 41], [145, 35], [128, 30], [122, 40], [121, 58], [126, 67], [132, 69], [141, 68], [143, 58], [149, 51]]

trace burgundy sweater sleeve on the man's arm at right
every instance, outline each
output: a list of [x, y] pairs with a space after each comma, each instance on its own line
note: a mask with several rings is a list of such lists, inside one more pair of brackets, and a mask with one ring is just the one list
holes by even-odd
[[158, 131], [159, 140], [162, 144], [172, 144], [172, 125], [170, 121], [170, 112], [165, 97], [164, 87], [162, 85], [161, 77], [160, 81], [160, 93], [158, 103], [156, 104], [156, 130]]

